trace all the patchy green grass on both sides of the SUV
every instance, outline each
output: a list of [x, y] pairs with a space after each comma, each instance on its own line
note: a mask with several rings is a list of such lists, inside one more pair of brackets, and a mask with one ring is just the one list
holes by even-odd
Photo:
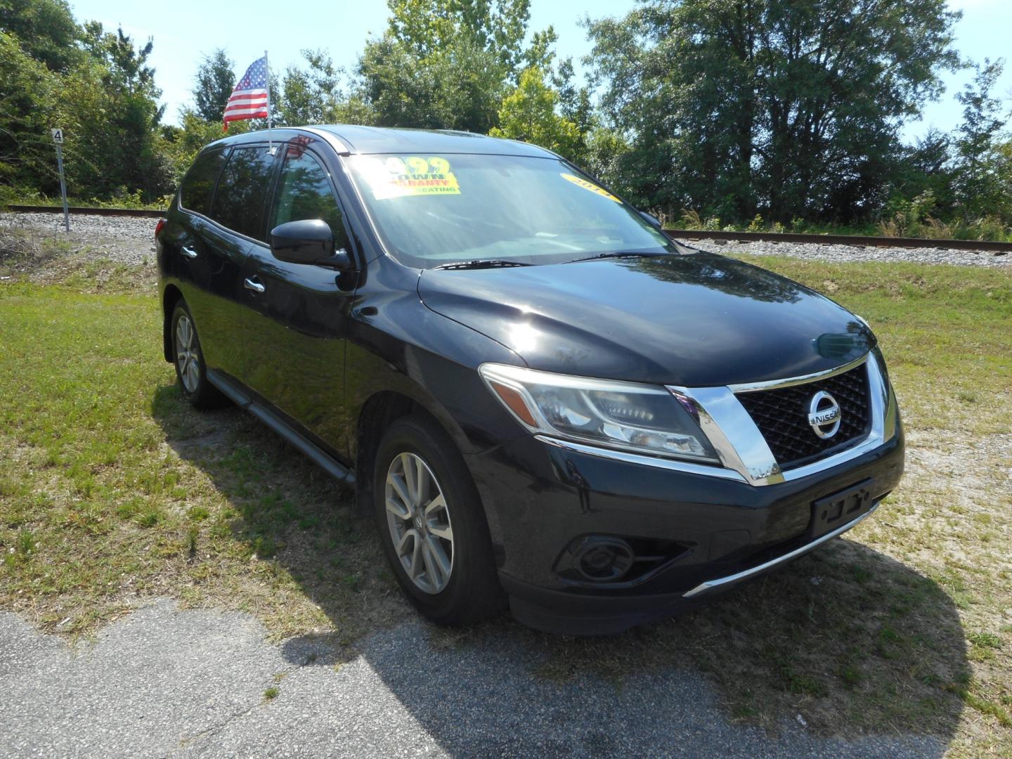
[[[879, 512], [776, 575], [615, 638], [500, 619], [431, 640], [483, 646], [506, 624], [537, 677], [620, 686], [695, 668], [732, 719], [1012, 756], [1009, 273], [761, 264], [875, 327], [909, 450]], [[347, 492], [251, 418], [181, 400], [150, 274], [91, 265], [100, 284], [73, 266], [57, 284], [0, 281], [0, 606], [73, 637], [168, 595], [248, 610], [278, 639], [327, 637], [345, 658], [411, 614]]]

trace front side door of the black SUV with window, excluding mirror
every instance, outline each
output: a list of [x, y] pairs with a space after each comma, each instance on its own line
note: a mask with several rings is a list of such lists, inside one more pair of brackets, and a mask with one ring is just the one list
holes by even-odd
[[[338, 250], [352, 254], [344, 215], [324, 161], [299, 139], [283, 146], [267, 230], [320, 219]], [[324, 147], [326, 149], [326, 147]], [[251, 251], [245, 272], [248, 361], [244, 383], [332, 451], [341, 447], [346, 420], [345, 326], [354, 276], [274, 258], [266, 245]]]

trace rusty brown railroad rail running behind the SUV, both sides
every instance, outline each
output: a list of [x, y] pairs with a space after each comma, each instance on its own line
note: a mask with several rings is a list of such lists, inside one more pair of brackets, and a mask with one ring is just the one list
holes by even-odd
[[[18, 214], [62, 214], [51, 205], [8, 205]], [[102, 217], [146, 217], [158, 219], [163, 210], [141, 208], [70, 208], [71, 214]], [[670, 230], [665, 234], [679, 240], [736, 240], [741, 242], [806, 243], [809, 245], [849, 245], [858, 248], [936, 248], [939, 250], [986, 250], [998, 255], [1012, 253], [1012, 243], [990, 240], [926, 240], [915, 237], [871, 237], [867, 235], [800, 235], [792, 232], [712, 232], [708, 230]]]

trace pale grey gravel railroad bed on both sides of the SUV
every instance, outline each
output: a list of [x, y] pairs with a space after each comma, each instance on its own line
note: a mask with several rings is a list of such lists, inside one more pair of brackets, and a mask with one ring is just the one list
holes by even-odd
[[[121, 263], [139, 264], [155, 253], [155, 219], [134, 217], [72, 216], [70, 240], [90, 247], [96, 255]], [[62, 214], [0, 214], [0, 226], [33, 228], [65, 235]], [[942, 248], [865, 248], [851, 245], [753, 242], [727, 240], [683, 240], [692, 247], [718, 253], [748, 253], [756, 256], [791, 256], [822, 261], [913, 261], [947, 263], [957, 266], [1009, 267], [1012, 255], [992, 251], [948, 250]]]

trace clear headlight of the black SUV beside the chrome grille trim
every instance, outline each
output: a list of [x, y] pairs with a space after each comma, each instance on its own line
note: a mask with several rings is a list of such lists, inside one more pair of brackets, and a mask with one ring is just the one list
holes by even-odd
[[719, 463], [685, 407], [664, 388], [484, 363], [479, 372], [531, 432], [650, 455]]

